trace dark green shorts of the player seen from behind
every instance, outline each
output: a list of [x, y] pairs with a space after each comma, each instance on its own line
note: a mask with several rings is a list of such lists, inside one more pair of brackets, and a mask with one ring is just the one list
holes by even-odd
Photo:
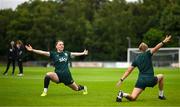
[[157, 84], [158, 78], [148, 77], [148, 76], [140, 76], [136, 82], [135, 87], [145, 89], [146, 87], [154, 87]]

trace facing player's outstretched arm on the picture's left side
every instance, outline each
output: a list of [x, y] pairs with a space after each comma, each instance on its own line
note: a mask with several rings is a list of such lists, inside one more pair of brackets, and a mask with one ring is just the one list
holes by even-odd
[[30, 52], [34, 52], [36, 54], [40, 54], [40, 55], [45, 55], [45, 56], [50, 56], [50, 53], [47, 51], [42, 51], [42, 50], [36, 50], [33, 49], [31, 45], [25, 45], [26, 49]]

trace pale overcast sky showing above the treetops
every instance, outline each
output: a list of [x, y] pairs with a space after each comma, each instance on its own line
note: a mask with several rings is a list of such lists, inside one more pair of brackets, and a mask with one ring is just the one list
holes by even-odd
[[[0, 0], [0, 9], [13, 8], [15, 9], [17, 5], [28, 1], [28, 0]], [[137, 1], [137, 0], [127, 0], [127, 1]]]

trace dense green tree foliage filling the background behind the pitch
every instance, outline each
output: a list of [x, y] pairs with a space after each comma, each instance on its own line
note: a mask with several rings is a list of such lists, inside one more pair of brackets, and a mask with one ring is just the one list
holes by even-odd
[[[150, 47], [165, 34], [173, 35], [169, 46], [180, 39], [178, 0], [30, 0], [15, 10], [0, 10], [0, 54], [6, 55], [11, 40], [34, 48], [53, 50], [56, 40], [69, 51], [89, 50], [88, 61], [126, 61], [131, 47], [144, 41]], [[130, 39], [127, 39], [130, 38]], [[27, 54], [27, 60], [42, 59]]]

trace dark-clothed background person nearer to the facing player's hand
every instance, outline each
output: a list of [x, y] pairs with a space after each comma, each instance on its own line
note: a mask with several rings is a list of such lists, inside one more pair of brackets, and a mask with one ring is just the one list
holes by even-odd
[[16, 60], [18, 62], [19, 73], [18, 76], [23, 76], [23, 51], [24, 45], [21, 40], [16, 41]]

